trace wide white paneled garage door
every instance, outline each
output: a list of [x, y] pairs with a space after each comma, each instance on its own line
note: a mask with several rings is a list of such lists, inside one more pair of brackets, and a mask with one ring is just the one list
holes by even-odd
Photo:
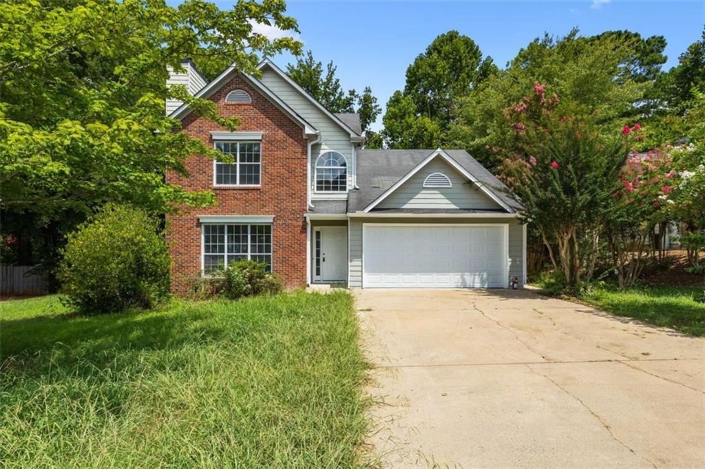
[[363, 287], [507, 287], [506, 225], [362, 229]]

